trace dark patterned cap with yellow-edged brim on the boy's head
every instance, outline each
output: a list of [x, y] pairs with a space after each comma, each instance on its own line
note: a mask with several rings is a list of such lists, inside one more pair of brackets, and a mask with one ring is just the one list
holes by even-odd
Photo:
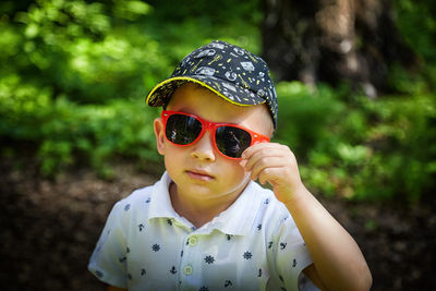
[[149, 106], [166, 106], [183, 83], [197, 83], [239, 106], [266, 104], [277, 128], [277, 94], [265, 61], [250, 51], [214, 40], [179, 63], [171, 76], [147, 95]]

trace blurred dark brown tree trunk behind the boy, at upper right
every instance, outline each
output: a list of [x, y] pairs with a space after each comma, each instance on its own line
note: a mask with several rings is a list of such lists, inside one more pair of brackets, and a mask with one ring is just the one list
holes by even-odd
[[263, 54], [277, 81], [347, 80], [370, 97], [387, 92], [391, 64], [412, 68], [390, 0], [263, 0]]

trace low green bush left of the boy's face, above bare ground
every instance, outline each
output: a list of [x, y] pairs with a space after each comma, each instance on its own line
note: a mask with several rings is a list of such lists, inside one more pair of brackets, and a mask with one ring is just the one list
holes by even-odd
[[[109, 178], [109, 162], [116, 157], [143, 163], [159, 159], [153, 131], [157, 109], [144, 102], [112, 100], [78, 106], [63, 97], [51, 100], [48, 90], [32, 86], [20, 92], [23, 102], [7, 107], [9, 98], [0, 99], [0, 136], [36, 144], [43, 175], [52, 177], [65, 166], [81, 163]], [[15, 92], [14, 96], [21, 95]]]

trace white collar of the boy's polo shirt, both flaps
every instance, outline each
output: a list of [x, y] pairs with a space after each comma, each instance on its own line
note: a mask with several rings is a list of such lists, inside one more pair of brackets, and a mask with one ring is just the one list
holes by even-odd
[[[155, 184], [152, 193], [148, 219], [179, 217], [172, 207], [169, 194], [171, 182], [171, 178], [165, 172], [160, 181]], [[245, 190], [228, 209], [203, 226], [198, 231], [210, 232], [216, 229], [225, 234], [247, 234], [254, 227], [254, 220], [261, 205], [262, 195], [259, 195], [259, 191], [262, 191], [262, 187], [255, 182], [250, 181]]]

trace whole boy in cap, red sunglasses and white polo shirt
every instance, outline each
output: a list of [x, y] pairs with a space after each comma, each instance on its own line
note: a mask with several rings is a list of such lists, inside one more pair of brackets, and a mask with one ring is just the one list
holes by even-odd
[[146, 101], [165, 108], [154, 128], [167, 171], [108, 217], [88, 268], [109, 290], [370, 289], [354, 240], [289, 147], [269, 143], [277, 97], [261, 58], [213, 41]]

